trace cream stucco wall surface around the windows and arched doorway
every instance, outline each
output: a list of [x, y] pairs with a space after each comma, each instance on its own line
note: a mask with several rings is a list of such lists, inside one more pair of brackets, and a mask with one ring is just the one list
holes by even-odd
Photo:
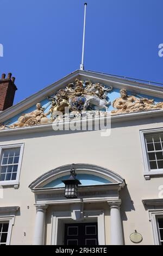
[[[73, 162], [109, 168], [126, 180], [127, 186], [120, 192], [124, 242], [126, 245], [133, 244], [129, 235], [136, 229], [143, 236], [141, 245], [154, 244], [151, 222], [142, 199], [158, 198], [158, 187], [163, 185], [163, 177], [145, 180], [139, 130], [157, 127], [163, 127], [163, 118], [113, 123], [109, 137], [101, 137], [100, 131], [52, 130], [3, 137], [0, 132], [1, 145], [24, 143], [20, 187], [17, 190], [4, 187], [4, 197], [0, 199], [1, 206], [20, 206], [12, 228], [11, 245], [33, 243], [36, 210], [34, 194], [28, 188], [29, 184], [48, 170]], [[109, 205], [85, 205], [87, 207], [104, 209], [105, 239], [109, 244]], [[49, 216], [50, 209], [47, 211], [46, 221], [47, 244], [51, 242], [52, 224]]]

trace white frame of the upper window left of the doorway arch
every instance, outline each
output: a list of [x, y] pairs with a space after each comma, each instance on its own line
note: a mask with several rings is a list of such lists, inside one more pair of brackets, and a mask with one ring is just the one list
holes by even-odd
[[0, 161], [2, 159], [3, 149], [13, 149], [13, 148], [18, 148], [18, 147], [20, 147], [20, 157], [19, 157], [19, 160], [18, 160], [16, 180], [0, 181], [0, 186], [14, 186], [14, 188], [18, 188], [19, 180], [20, 180], [20, 171], [21, 171], [21, 166], [22, 166], [24, 143], [10, 144], [10, 145], [0, 145]]

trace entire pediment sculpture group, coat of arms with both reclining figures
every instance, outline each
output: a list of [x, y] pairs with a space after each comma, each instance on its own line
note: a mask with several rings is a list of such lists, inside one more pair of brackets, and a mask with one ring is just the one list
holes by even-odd
[[[8, 121], [7, 124], [1, 124], [0, 130], [48, 124], [67, 117], [70, 121], [85, 117], [95, 118], [101, 114], [107, 117], [108, 107], [111, 103], [108, 93], [111, 90], [112, 86], [107, 88], [100, 83], [76, 79], [64, 89], [60, 89], [54, 95], [49, 96], [47, 98], [49, 102], [45, 108], [41, 106], [41, 103], [37, 103], [34, 111], [21, 114], [17, 122], [12, 125], [10, 125], [11, 121]], [[163, 102], [154, 103], [153, 99], [139, 95], [128, 95], [124, 88], [120, 90], [120, 94], [121, 96], [112, 102], [112, 107], [115, 109], [111, 111], [111, 115], [163, 108]], [[49, 106], [49, 111], [45, 113]]]

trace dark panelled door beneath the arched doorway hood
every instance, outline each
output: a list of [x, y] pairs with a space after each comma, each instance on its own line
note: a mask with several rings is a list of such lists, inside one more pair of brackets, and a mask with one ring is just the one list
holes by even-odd
[[98, 245], [97, 223], [65, 224], [64, 245]]

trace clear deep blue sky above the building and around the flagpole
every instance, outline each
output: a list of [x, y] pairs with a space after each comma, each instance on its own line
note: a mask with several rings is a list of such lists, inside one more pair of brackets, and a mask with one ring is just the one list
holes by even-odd
[[[0, 73], [15, 103], [79, 69], [83, 0], [0, 0]], [[163, 83], [162, 0], [87, 0], [85, 70]]]

